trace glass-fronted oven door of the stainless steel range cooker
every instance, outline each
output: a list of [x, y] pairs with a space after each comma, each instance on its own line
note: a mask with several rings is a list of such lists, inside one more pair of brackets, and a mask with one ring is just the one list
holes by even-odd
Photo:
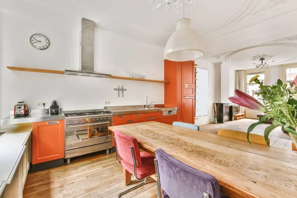
[[108, 126], [111, 126], [109, 121], [66, 125], [66, 150], [111, 142]]

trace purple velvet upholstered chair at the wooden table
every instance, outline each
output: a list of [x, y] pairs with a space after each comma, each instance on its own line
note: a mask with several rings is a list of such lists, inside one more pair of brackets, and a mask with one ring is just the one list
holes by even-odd
[[[162, 149], [155, 150], [158, 198], [221, 198], [215, 177], [173, 158]], [[226, 196], [222, 196], [228, 198]]]

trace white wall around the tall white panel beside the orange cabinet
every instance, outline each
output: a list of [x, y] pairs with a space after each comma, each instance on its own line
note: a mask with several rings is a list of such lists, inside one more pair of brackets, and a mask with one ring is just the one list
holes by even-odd
[[[195, 63], [198, 64], [198, 67], [209, 70], [208, 78], [208, 106], [212, 108], [213, 103], [215, 102], [215, 68], [214, 64], [206, 60], [197, 59]], [[210, 113], [205, 116], [200, 116], [195, 119], [195, 124], [202, 125], [207, 124], [213, 121], [213, 118]]]

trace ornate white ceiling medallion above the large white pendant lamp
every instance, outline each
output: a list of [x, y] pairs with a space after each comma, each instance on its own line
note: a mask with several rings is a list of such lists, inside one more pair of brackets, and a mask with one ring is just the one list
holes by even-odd
[[[184, 0], [184, 13], [193, 12], [198, 0]], [[154, 10], [175, 11], [183, 13], [183, 0], [148, 0]]]

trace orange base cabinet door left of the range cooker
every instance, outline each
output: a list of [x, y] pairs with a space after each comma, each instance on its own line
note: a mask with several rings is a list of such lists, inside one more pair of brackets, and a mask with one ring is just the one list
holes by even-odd
[[32, 164], [64, 158], [64, 120], [35, 122], [32, 127]]

